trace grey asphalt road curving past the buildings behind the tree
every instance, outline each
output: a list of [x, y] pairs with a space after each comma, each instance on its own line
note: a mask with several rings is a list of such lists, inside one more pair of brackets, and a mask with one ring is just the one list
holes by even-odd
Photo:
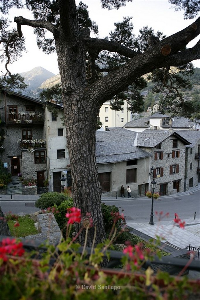
[[[174, 214], [177, 213], [182, 220], [194, 218], [196, 211], [196, 217], [200, 216], [200, 190], [193, 190], [188, 193], [177, 193], [173, 196], [162, 196], [158, 200], [154, 200], [154, 221], [156, 221], [155, 211], [163, 211], [164, 214], [169, 212], [169, 217], [166, 220], [173, 220]], [[13, 199], [10, 199], [10, 195], [1, 195], [1, 209], [2, 211], [13, 213], [27, 213], [38, 211], [39, 209], [34, 207], [34, 202], [38, 199], [38, 196], [25, 196], [25, 195], [13, 195]], [[147, 197], [138, 199], [118, 198], [115, 197], [103, 197], [102, 201], [108, 205], [116, 205], [120, 207], [120, 211], [126, 216], [127, 221], [149, 222], [151, 212], [151, 199]]]

